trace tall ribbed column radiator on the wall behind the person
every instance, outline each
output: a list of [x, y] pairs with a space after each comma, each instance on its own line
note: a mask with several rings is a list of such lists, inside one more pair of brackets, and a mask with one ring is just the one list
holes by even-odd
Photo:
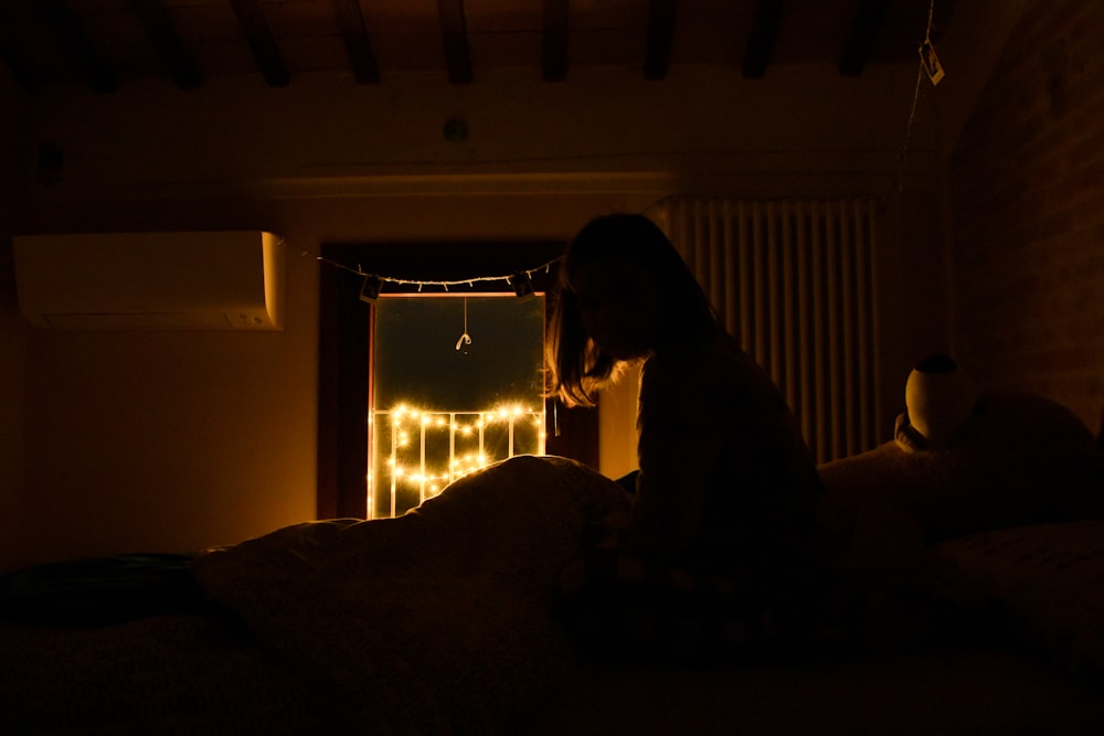
[[818, 462], [882, 437], [872, 198], [669, 198], [648, 214], [782, 388]]

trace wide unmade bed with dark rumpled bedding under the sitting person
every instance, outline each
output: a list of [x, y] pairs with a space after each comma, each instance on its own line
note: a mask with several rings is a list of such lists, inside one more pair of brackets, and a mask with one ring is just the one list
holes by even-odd
[[124, 585], [126, 606], [82, 609], [56, 578], [7, 576], [0, 733], [1104, 733], [1102, 440], [1036, 396], [984, 408], [952, 450], [891, 440], [820, 467], [866, 591], [847, 655], [590, 657], [554, 582], [626, 498], [522, 456], [399, 519], [168, 558], [199, 597], [173, 584], [150, 607]]

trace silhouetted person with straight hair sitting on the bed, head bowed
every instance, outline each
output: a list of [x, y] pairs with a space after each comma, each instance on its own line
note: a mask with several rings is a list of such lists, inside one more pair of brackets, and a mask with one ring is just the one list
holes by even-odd
[[583, 227], [552, 296], [551, 395], [594, 406], [643, 362], [630, 512], [564, 570], [562, 610], [603, 646], [667, 637], [677, 655], [790, 638], [828, 587], [835, 537], [777, 386], [643, 215]]

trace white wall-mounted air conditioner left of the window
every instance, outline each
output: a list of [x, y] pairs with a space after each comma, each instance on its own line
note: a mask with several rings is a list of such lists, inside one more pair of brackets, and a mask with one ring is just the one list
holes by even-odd
[[68, 330], [282, 330], [283, 241], [261, 231], [15, 235], [20, 311]]

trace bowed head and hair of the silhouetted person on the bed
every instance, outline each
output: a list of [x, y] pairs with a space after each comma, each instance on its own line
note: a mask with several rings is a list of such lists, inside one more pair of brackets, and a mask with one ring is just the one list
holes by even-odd
[[593, 404], [618, 365], [718, 329], [698, 280], [644, 215], [605, 215], [584, 226], [560, 264], [554, 297], [550, 393], [569, 405]]

